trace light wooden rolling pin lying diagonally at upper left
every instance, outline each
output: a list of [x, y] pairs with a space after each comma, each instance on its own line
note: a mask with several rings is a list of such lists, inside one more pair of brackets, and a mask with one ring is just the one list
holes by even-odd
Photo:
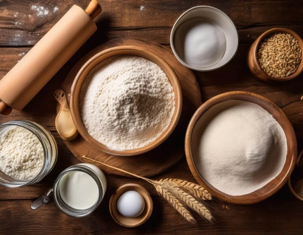
[[77, 5], [0, 80], [0, 113], [21, 110], [97, 30], [102, 11], [92, 0], [84, 11]]

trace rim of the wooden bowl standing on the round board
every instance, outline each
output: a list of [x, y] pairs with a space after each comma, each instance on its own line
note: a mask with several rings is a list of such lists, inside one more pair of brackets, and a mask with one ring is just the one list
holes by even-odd
[[[87, 69], [87, 67], [89, 67], [99, 57], [101, 57], [105, 54], [108, 54], [108, 53], [112, 53], [113, 51], [139, 51], [140, 53], [148, 54], [148, 55], [154, 57], [156, 60], [160, 61], [161, 64], [163, 64], [165, 66], [165, 68], [168, 70], [168, 73], [170, 73], [170, 75], [171, 75], [171, 79], [175, 83], [176, 90], [174, 89], [174, 93], [175, 93], [175, 97], [177, 97], [177, 99], [175, 98], [175, 100], [178, 101], [178, 102], [175, 102], [175, 113], [176, 113], [175, 119], [171, 120], [170, 125], [168, 126], [167, 129], [165, 129], [164, 132], [166, 132], [166, 133], [163, 136], [160, 135], [157, 139], [155, 139], [151, 143], [149, 143], [149, 144], [147, 144], [143, 147], [140, 147], [138, 149], [128, 149], [128, 150], [112, 149], [112, 148], [109, 148], [108, 146], [106, 146], [105, 144], [102, 144], [101, 142], [98, 142], [91, 135], [88, 134], [88, 132], [85, 128], [82, 129], [81, 125], [79, 125], [78, 122], [83, 124], [81, 113], [78, 113], [78, 114], [75, 113], [75, 107], [74, 107], [75, 89], [76, 89], [77, 83], [78, 83], [82, 73]], [[125, 55], [127, 55], [127, 53], [125, 53]], [[101, 63], [102, 61], [100, 61], [99, 63]], [[169, 80], [169, 82], [171, 83], [170, 80]], [[80, 92], [81, 92], [81, 89], [80, 89]], [[177, 77], [175, 71], [159, 55], [155, 54], [154, 52], [152, 52], [150, 50], [147, 50], [147, 49], [144, 49], [144, 48], [138, 47], [138, 46], [117, 46], [117, 47], [108, 48], [104, 51], [101, 51], [101, 52], [95, 54], [80, 68], [80, 70], [78, 71], [78, 73], [75, 76], [75, 79], [72, 83], [69, 106], [70, 106], [70, 111], [71, 111], [73, 122], [75, 123], [75, 126], [76, 126], [78, 132], [83, 137], [83, 139], [85, 139], [90, 145], [92, 145], [95, 148], [101, 150], [102, 152], [106, 152], [106, 153], [111, 154], [111, 155], [134, 156], [134, 155], [143, 154], [143, 153], [146, 153], [148, 151], [151, 151], [152, 149], [155, 149], [160, 144], [162, 144], [171, 135], [171, 133], [174, 131], [175, 127], [178, 124], [180, 116], [181, 116], [182, 90], [181, 90], [181, 85], [180, 85], [180, 82], [178, 80], [178, 77]], [[77, 118], [77, 117], [79, 117], [79, 118]], [[84, 126], [84, 124], [83, 124], [83, 126]], [[104, 148], [102, 145], [104, 145], [107, 148]]]

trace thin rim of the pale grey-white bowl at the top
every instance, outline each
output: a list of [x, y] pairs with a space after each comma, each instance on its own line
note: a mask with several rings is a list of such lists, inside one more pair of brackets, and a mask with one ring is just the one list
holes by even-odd
[[[206, 68], [198, 68], [198, 67], [192, 67], [190, 66], [189, 64], [186, 64], [177, 54], [176, 50], [175, 50], [175, 45], [174, 45], [174, 38], [175, 38], [175, 31], [177, 30], [177, 23], [181, 20], [181, 18], [183, 18], [186, 14], [188, 14], [188, 12], [196, 9], [196, 8], [211, 8], [215, 11], [218, 11], [219, 13], [221, 13], [222, 15], [224, 15], [231, 23], [231, 25], [233, 26], [235, 32], [236, 32], [236, 35], [237, 35], [237, 47], [235, 48], [235, 51], [233, 53], [233, 55], [230, 57], [230, 59], [225, 63], [225, 64], [222, 64], [221, 66], [217, 67], [217, 68], [213, 68], [213, 69], [208, 69], [209, 67], [206, 67]], [[235, 55], [237, 54], [237, 51], [238, 51], [238, 47], [239, 47], [239, 34], [238, 34], [238, 30], [234, 24], [234, 22], [231, 20], [231, 18], [229, 18], [228, 15], [226, 15], [223, 11], [221, 11], [220, 9], [218, 8], [215, 8], [215, 7], [212, 7], [212, 6], [207, 6], [207, 5], [201, 5], [201, 6], [195, 6], [195, 7], [192, 7], [190, 9], [188, 9], [187, 11], [185, 11], [184, 13], [182, 13], [182, 15], [180, 15], [178, 17], [178, 19], [176, 20], [175, 24], [173, 25], [172, 29], [171, 29], [171, 34], [170, 34], [170, 44], [171, 44], [171, 50], [173, 51], [175, 57], [178, 59], [178, 61], [183, 64], [185, 67], [188, 67], [192, 70], [196, 70], [196, 71], [213, 71], [213, 70], [217, 70], [217, 69], [220, 69], [222, 68], [223, 66], [225, 66], [226, 64], [228, 64], [234, 57]], [[215, 64], [214, 64], [215, 65]], [[212, 65], [212, 66], [214, 66]]]

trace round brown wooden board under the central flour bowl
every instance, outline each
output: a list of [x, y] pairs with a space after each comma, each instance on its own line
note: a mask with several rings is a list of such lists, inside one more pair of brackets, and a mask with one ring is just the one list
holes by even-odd
[[[162, 57], [175, 70], [175, 73], [177, 74], [178, 79], [181, 83], [183, 96], [181, 117], [176, 129], [163, 144], [150, 152], [137, 156], [115, 156], [107, 154], [89, 145], [88, 142], [86, 142], [80, 135], [72, 142], [64, 142], [68, 149], [81, 162], [92, 163], [92, 161], [82, 158], [82, 156], [85, 155], [86, 157], [92, 158], [99, 162], [104, 162], [108, 165], [121, 168], [137, 175], [144, 177], [154, 176], [167, 170], [170, 166], [174, 165], [183, 156], [185, 156], [184, 138], [186, 128], [189, 120], [191, 119], [191, 116], [202, 104], [200, 87], [194, 73], [190, 69], [181, 65], [172, 54], [170, 49], [159, 44], [152, 44], [141, 40], [114, 39], [107, 41], [104, 44], [96, 47], [94, 50], [90, 51], [88, 54], [82, 57], [82, 59], [79, 60], [77, 64], [75, 64], [75, 66], [72, 68], [62, 83], [62, 90], [64, 90], [65, 94], [67, 94], [69, 101], [68, 94], [70, 94], [73, 80], [82, 65], [100, 51], [103, 51], [110, 47], [124, 45], [143, 47], [145, 49], [153, 51], [155, 54], [158, 54], [160, 57]], [[105, 167], [99, 163], [94, 162], [94, 164], [109, 174], [117, 174], [129, 177], [127, 174]]]

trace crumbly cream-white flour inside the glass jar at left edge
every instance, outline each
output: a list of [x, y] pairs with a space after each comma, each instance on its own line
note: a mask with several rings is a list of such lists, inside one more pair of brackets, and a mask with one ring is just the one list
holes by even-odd
[[0, 136], [0, 170], [6, 175], [32, 179], [38, 175], [43, 163], [42, 144], [28, 129], [16, 126]]

